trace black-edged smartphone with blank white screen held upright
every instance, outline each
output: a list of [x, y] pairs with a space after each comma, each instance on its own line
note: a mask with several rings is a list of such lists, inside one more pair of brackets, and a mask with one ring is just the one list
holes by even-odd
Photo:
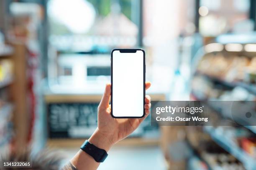
[[111, 52], [111, 115], [141, 118], [145, 115], [145, 51], [114, 49]]

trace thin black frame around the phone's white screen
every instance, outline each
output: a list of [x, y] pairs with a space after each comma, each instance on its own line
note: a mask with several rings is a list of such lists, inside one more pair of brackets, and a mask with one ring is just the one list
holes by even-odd
[[[121, 117], [116, 117], [113, 115], [113, 52], [114, 51], [120, 51], [121, 53], [135, 53], [137, 51], [142, 51], [143, 52], [143, 115], [140, 117], [134, 117], [134, 116], [121, 116]], [[145, 79], [146, 79], [146, 62], [145, 62], [145, 51], [141, 48], [115, 48], [111, 51], [111, 116], [114, 118], [142, 118], [146, 115], [145, 113], [145, 94], [146, 94], [146, 85], [145, 85]]]

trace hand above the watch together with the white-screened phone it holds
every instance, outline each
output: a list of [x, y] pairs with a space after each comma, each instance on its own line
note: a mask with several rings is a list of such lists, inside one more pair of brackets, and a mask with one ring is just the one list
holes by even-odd
[[145, 82], [145, 69], [143, 50], [115, 49], [111, 52], [112, 84], [106, 85], [100, 101], [98, 127], [89, 139], [91, 143], [108, 151], [146, 119], [151, 99], [145, 95], [145, 90], [151, 83]]

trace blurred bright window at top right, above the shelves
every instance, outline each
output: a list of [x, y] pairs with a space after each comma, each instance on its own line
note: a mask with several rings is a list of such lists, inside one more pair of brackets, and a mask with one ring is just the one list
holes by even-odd
[[252, 31], [254, 21], [248, 19], [249, 8], [250, 0], [200, 0], [200, 33], [216, 36]]

